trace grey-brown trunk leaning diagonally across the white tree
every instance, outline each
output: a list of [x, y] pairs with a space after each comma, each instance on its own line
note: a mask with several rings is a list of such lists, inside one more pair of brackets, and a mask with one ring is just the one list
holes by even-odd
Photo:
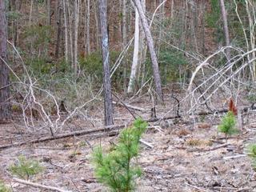
[[150, 32], [150, 26], [146, 21], [146, 16], [142, 10], [142, 5], [140, 0], [134, 0], [134, 5], [136, 6], [139, 17], [141, 18], [143, 30], [146, 35], [147, 46], [149, 47], [149, 50], [150, 50], [150, 58], [151, 58], [153, 74], [154, 74], [155, 89], [158, 94], [158, 99], [162, 101], [163, 100], [162, 85], [161, 85], [161, 78], [160, 78], [159, 69], [158, 69], [158, 58], [154, 50], [154, 42]]

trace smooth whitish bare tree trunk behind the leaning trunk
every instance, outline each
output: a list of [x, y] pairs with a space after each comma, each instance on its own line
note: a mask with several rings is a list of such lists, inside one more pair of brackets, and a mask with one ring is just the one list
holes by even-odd
[[138, 10], [135, 9], [135, 31], [134, 31], [134, 57], [133, 64], [130, 71], [130, 81], [127, 89], [127, 94], [131, 94], [134, 91], [134, 83], [136, 80], [136, 74], [138, 70], [138, 49], [139, 49], [139, 15]]

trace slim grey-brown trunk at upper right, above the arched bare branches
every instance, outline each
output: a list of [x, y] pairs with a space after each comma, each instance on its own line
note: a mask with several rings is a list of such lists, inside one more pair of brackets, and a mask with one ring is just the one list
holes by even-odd
[[[230, 33], [229, 33], [229, 26], [227, 24], [226, 8], [225, 8], [224, 0], [219, 0], [219, 3], [222, 10], [222, 21], [223, 21], [223, 30], [225, 35], [226, 46], [230, 46]], [[226, 50], [226, 58], [228, 61], [230, 61], [230, 49]]]

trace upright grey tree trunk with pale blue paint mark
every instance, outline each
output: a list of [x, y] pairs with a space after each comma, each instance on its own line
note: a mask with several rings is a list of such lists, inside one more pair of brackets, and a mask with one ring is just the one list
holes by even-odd
[[110, 80], [110, 52], [109, 37], [106, 24], [106, 0], [99, 0], [99, 18], [102, 31], [102, 61], [103, 61], [103, 86], [104, 86], [104, 108], [105, 108], [105, 124], [111, 126], [113, 122], [113, 106], [111, 94]]

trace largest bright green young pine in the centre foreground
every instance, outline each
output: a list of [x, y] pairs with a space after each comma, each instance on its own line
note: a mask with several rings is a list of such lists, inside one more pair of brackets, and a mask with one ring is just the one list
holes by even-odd
[[147, 123], [137, 119], [134, 126], [122, 130], [118, 144], [112, 146], [107, 154], [102, 147], [94, 149], [92, 162], [94, 174], [98, 182], [108, 186], [112, 191], [132, 191], [135, 189], [135, 179], [142, 174], [132, 159], [138, 156], [139, 139], [145, 132]]

